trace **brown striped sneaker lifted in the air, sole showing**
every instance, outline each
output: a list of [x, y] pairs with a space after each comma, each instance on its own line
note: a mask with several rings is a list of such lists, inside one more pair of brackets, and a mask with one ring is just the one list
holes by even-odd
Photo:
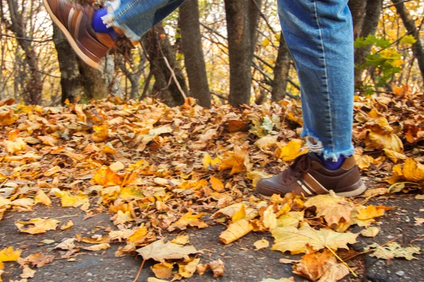
[[91, 27], [94, 9], [78, 6], [66, 0], [43, 0], [47, 12], [60, 28], [76, 54], [93, 68], [100, 68], [100, 61], [114, 47], [112, 38], [96, 33]]

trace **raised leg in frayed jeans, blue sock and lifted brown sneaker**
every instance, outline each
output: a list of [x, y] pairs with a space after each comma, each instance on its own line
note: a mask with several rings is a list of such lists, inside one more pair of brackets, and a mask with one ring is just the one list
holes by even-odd
[[107, 11], [94, 11], [91, 6], [77, 6], [69, 0], [43, 0], [47, 12], [60, 28], [76, 54], [93, 68], [114, 47], [117, 32], [122, 30], [131, 41], [137, 41], [178, 8], [184, 0], [114, 0], [107, 1]]

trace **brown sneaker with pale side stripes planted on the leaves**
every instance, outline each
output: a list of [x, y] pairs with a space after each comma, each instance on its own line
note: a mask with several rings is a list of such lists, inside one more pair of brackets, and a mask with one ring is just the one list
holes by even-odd
[[316, 154], [303, 154], [290, 168], [257, 183], [257, 192], [266, 197], [288, 192], [310, 197], [328, 194], [329, 190], [345, 197], [358, 196], [367, 190], [354, 157], [345, 159], [341, 168], [331, 171], [324, 167]]

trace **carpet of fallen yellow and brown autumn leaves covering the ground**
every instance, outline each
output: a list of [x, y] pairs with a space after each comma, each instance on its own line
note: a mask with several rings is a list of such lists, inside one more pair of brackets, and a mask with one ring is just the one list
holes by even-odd
[[[364, 197], [422, 187], [423, 102], [424, 94], [408, 87], [397, 87], [395, 94], [355, 97], [355, 158], [364, 178], [370, 178], [369, 188], [377, 188]], [[201, 264], [201, 252], [187, 245], [187, 235], [163, 240], [164, 233], [223, 223], [223, 244], [250, 232], [270, 232], [271, 250], [305, 253], [300, 261], [290, 261], [295, 274], [338, 281], [349, 272], [355, 275], [349, 256], [340, 252], [358, 240], [350, 226], [362, 226], [361, 234], [373, 237], [379, 231], [372, 226], [375, 218], [390, 209], [334, 193], [266, 200], [254, 191], [259, 179], [307, 152], [296, 101], [238, 109], [204, 109], [191, 98], [175, 108], [118, 97], [63, 107], [13, 103], [0, 102], [0, 220], [6, 212], [31, 212], [36, 205], [60, 201], [62, 207], [80, 207], [88, 215], [110, 213], [117, 226], [105, 236], [77, 235], [59, 243], [55, 248], [66, 251], [63, 257], [125, 242], [117, 257], [138, 252], [158, 262], [152, 267], [156, 278], [149, 281], [175, 281], [208, 269], [223, 276], [223, 262]], [[73, 226], [71, 220], [42, 218], [15, 224], [17, 232], [28, 235], [54, 231], [59, 224], [62, 230]], [[367, 252], [384, 259], [413, 259], [419, 252], [393, 244], [372, 245]], [[254, 245], [268, 247], [264, 240]], [[20, 254], [13, 246], [0, 250], [0, 274], [3, 262], [17, 261], [21, 277], [30, 278], [35, 274], [30, 267], [54, 259]]]

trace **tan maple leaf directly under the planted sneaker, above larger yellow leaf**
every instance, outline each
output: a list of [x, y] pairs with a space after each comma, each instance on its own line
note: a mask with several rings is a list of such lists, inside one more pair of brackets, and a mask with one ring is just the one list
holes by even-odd
[[338, 197], [333, 191], [329, 195], [310, 197], [305, 202], [305, 207], [316, 207], [317, 216], [324, 216], [325, 221], [331, 226], [338, 224], [341, 219], [351, 221], [354, 205], [344, 197]]

